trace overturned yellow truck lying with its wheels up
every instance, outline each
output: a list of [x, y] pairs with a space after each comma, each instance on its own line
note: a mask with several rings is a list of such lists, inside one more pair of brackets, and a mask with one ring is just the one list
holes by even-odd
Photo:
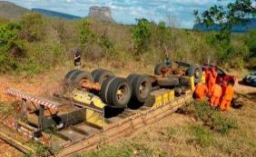
[[25, 153], [36, 152], [31, 141], [42, 143], [50, 148], [47, 155], [57, 156], [113, 142], [191, 101], [202, 69], [194, 64], [185, 67], [156, 65], [153, 75], [126, 78], [105, 69], [72, 70], [64, 76], [63, 90], [51, 100], [8, 88], [8, 94], [21, 99], [22, 109], [0, 124], [0, 137]]

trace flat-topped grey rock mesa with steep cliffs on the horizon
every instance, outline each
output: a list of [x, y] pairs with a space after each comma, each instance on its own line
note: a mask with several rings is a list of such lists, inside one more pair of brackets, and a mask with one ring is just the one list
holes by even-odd
[[96, 18], [104, 22], [114, 22], [109, 7], [91, 6], [88, 17]]

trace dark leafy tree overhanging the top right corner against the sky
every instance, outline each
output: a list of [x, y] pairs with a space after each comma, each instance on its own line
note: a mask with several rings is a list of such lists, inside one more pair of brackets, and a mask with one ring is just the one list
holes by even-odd
[[213, 5], [202, 15], [199, 15], [198, 11], [194, 11], [196, 23], [203, 23], [207, 26], [212, 26], [215, 23], [220, 24], [221, 31], [216, 37], [220, 42], [230, 43], [232, 26], [245, 23], [248, 18], [256, 15], [256, 7], [252, 2], [255, 3], [256, 1], [235, 0], [228, 5]]

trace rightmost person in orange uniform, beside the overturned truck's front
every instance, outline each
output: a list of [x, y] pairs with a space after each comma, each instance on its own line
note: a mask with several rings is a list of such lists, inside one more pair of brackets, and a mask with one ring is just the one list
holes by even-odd
[[222, 111], [229, 111], [231, 109], [231, 101], [233, 98], [233, 93], [234, 93], [233, 83], [230, 81], [222, 96], [222, 103], [220, 107]]

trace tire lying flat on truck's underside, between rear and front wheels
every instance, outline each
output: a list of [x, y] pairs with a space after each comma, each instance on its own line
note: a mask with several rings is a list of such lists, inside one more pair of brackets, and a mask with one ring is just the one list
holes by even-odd
[[179, 85], [180, 81], [177, 77], [157, 78], [157, 84], [161, 87], [173, 87]]

